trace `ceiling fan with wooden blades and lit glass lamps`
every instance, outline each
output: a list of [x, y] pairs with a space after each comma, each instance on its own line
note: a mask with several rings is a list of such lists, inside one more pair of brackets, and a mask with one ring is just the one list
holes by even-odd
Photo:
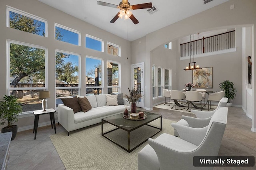
[[97, 1], [97, 4], [102, 5], [102, 6], [108, 6], [108, 7], [120, 9], [120, 12], [118, 12], [116, 14], [116, 16], [114, 16], [114, 18], [110, 21], [111, 23], [116, 22], [118, 17], [122, 18], [124, 16], [125, 20], [130, 18], [134, 24], [138, 24], [139, 23], [138, 20], [134, 17], [134, 15], [132, 14], [132, 12], [130, 10], [152, 8], [151, 2], [144, 3], [144, 4], [137, 4], [137, 5], [130, 5], [128, 0], [122, 0], [122, 2], [120, 2], [119, 6], [110, 4], [107, 2], [101, 2], [101, 1]]

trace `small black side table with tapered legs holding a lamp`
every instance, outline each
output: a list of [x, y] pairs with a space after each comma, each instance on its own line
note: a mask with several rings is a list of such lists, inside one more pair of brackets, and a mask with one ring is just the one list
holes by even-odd
[[53, 124], [54, 130], [56, 133], [56, 126], [55, 126], [55, 119], [54, 119], [55, 112], [56, 112], [56, 110], [54, 110], [54, 109], [46, 109], [46, 111], [43, 111], [43, 110], [33, 111], [34, 116], [35, 116], [34, 129], [33, 129], [33, 133], [35, 133], [35, 138], [34, 138], [35, 140], [36, 140], [36, 132], [37, 132], [38, 121], [39, 121], [40, 115], [50, 114], [51, 125]]

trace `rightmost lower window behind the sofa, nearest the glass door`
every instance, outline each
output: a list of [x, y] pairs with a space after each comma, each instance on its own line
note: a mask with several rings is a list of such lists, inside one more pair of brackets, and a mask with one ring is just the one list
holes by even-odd
[[119, 65], [120, 63], [114, 61], [107, 62], [107, 70], [108, 70], [108, 94], [111, 93], [119, 93], [120, 85], [119, 85]]

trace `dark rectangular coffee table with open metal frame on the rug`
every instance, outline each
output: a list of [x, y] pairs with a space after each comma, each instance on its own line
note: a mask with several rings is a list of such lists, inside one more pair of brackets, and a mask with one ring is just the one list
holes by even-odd
[[[130, 116], [130, 113], [129, 113]], [[160, 127], [155, 127], [152, 125], [148, 125], [148, 123], [155, 121], [156, 119], [160, 119]], [[113, 125], [114, 128], [112, 130], [109, 130], [107, 132], [103, 132], [103, 125], [104, 123], [108, 123]], [[133, 148], [130, 147], [130, 132], [141, 128], [143, 126], [149, 126], [155, 129], [159, 129], [157, 130], [154, 134], [149, 134], [149, 136], [146, 136], [145, 140], [143, 140], [142, 142], [140, 142], [139, 144], [136, 144]], [[125, 130], [127, 132], [127, 148], [125, 148], [124, 146], [122, 146], [121, 144], [118, 144], [118, 140], [115, 140], [113, 138], [108, 137], [106, 134], [111, 133], [115, 130], [118, 129], [122, 129]], [[132, 152], [134, 149], [138, 148], [138, 146], [140, 146], [141, 144], [143, 144], [144, 142], [146, 142], [148, 140], [148, 138], [151, 138], [152, 136], [156, 135], [158, 132], [160, 132], [162, 130], [162, 115], [157, 115], [154, 113], [148, 113], [146, 112], [146, 119], [144, 120], [129, 120], [129, 119], [125, 119], [123, 117], [123, 114], [118, 114], [118, 115], [114, 115], [114, 116], [110, 116], [110, 117], [106, 117], [101, 119], [101, 135], [104, 136], [105, 138], [107, 138], [108, 140], [112, 141], [114, 144], [120, 146], [121, 148], [123, 148], [124, 150], [126, 150], [127, 152]], [[138, 138], [140, 138], [140, 136], [138, 136]]]

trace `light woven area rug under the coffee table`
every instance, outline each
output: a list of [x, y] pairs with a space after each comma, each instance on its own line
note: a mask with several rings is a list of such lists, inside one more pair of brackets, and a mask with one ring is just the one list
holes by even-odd
[[[174, 121], [163, 119], [163, 130], [152, 138], [162, 133], [173, 135], [174, 128], [171, 127], [171, 123]], [[160, 119], [150, 124], [160, 127]], [[104, 132], [113, 128], [108, 123], [104, 124]], [[119, 129], [113, 132], [111, 135], [116, 136], [118, 142], [127, 142], [126, 131]], [[150, 126], [143, 126], [131, 132], [131, 146], [140, 142], [142, 138], [145, 140], [144, 137], [150, 133], [154, 133]], [[50, 135], [50, 138], [67, 170], [138, 170], [138, 152], [147, 144], [144, 142], [128, 153], [101, 136], [101, 124], [74, 130], [69, 136], [67, 132], [61, 132]]]

